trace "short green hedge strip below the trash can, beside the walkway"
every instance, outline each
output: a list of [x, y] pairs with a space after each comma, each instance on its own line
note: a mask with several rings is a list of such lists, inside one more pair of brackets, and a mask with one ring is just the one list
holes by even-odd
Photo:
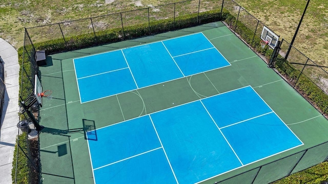
[[[27, 133], [23, 132], [16, 137], [16, 143], [18, 143], [19, 139], [19, 146], [27, 153]], [[16, 154], [18, 151], [18, 157], [16, 158]], [[17, 162], [17, 176], [16, 176], [16, 162]], [[14, 150], [14, 158], [12, 162], [12, 170], [11, 170], [11, 178], [13, 183], [15, 183], [15, 176], [16, 176], [16, 183], [20, 184], [28, 184], [29, 182], [29, 169], [28, 169], [28, 160], [22, 150], [15, 145]]]

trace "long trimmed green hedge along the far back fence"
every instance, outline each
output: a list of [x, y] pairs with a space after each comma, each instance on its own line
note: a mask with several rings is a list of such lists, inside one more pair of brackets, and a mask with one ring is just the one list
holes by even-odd
[[[59, 53], [67, 50], [77, 50], [92, 47], [95, 45], [107, 44], [150, 34], [163, 33], [176, 29], [188, 28], [208, 22], [221, 20], [220, 10], [182, 15], [174, 18], [151, 21], [150, 24], [137, 24], [121, 28], [114, 28], [94, 33], [76, 35], [34, 43], [36, 50], [46, 50], [47, 54]], [[223, 17], [222, 17], [223, 18]], [[124, 32], [124, 33], [123, 33]]]

